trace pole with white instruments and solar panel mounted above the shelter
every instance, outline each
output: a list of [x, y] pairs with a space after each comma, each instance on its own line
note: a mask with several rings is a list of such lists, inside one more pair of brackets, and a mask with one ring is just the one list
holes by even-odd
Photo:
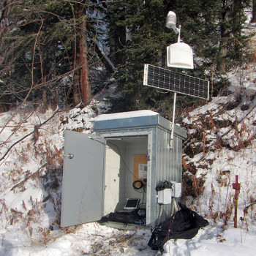
[[[167, 67], [193, 69], [193, 51], [189, 45], [181, 42], [181, 25], [176, 27], [176, 13], [168, 12], [166, 18], [168, 29], [178, 34], [178, 42], [167, 46]], [[177, 93], [186, 94], [203, 99], [209, 98], [209, 82], [189, 75], [179, 74], [168, 69], [162, 69], [153, 65], [144, 65], [144, 86], [156, 87], [167, 91], [173, 91], [173, 127], [170, 135], [170, 148], [173, 148], [174, 121]]]

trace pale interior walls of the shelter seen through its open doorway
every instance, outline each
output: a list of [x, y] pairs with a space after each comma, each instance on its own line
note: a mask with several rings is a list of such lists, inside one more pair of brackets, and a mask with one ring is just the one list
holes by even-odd
[[133, 183], [133, 156], [147, 153], [147, 136], [108, 140], [105, 154], [105, 195], [103, 215], [122, 210], [126, 198], [140, 198]]

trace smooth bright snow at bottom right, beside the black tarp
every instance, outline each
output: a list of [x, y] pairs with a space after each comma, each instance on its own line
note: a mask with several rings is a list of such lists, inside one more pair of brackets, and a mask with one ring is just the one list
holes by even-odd
[[191, 240], [168, 241], [163, 255], [255, 255], [255, 235], [255, 225], [249, 231], [231, 226], [223, 231], [220, 223], [200, 229]]

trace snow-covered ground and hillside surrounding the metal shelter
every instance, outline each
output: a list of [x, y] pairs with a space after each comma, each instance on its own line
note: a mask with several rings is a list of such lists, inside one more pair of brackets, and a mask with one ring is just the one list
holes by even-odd
[[[256, 199], [256, 75], [252, 69], [237, 74], [229, 74], [232, 94], [216, 97], [184, 117], [188, 134], [198, 135], [203, 127], [207, 141], [204, 153], [186, 157], [187, 164], [196, 167], [195, 178], [203, 178], [204, 191], [185, 203], [210, 225], [191, 240], [167, 241], [162, 255], [255, 255], [255, 206], [247, 212], [244, 208]], [[54, 116], [54, 111], [42, 113], [29, 105], [16, 114], [0, 114], [0, 157], [31, 132], [0, 162], [0, 255], [157, 255], [147, 246], [151, 230], [143, 227], [117, 230], [97, 222], [59, 227], [64, 129], [91, 132], [99, 107], [104, 103], [94, 100], [89, 107]], [[202, 148], [203, 141], [196, 145]], [[236, 175], [241, 183], [237, 229], [232, 189]]]

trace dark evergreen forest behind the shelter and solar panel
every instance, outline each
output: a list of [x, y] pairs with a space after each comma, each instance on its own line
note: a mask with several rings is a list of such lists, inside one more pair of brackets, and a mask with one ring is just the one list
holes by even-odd
[[[42, 110], [89, 104], [115, 81], [110, 112], [152, 109], [172, 115], [171, 92], [143, 87], [143, 64], [166, 67], [165, 27], [173, 10], [195, 69], [211, 81], [211, 97], [227, 87], [223, 74], [254, 59], [244, 34], [252, 0], [4, 0], [0, 4], [0, 110], [29, 101]], [[178, 97], [178, 115], [200, 100]], [[193, 108], [194, 108], [193, 107]]]

